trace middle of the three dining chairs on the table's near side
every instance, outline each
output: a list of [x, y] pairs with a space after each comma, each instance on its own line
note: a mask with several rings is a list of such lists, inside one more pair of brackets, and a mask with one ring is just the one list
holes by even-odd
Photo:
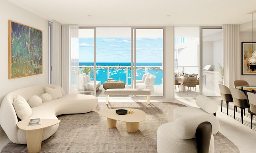
[[247, 103], [247, 98], [244, 92], [239, 89], [231, 88], [230, 90], [234, 101], [234, 119], [236, 114], [236, 108], [239, 107], [241, 109], [241, 119], [243, 124], [243, 115], [245, 115], [245, 109], [250, 108], [249, 104]]

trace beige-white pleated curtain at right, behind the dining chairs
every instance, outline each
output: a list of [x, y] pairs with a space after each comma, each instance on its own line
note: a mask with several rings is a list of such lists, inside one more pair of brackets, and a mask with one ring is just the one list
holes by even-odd
[[234, 80], [240, 76], [239, 25], [223, 25], [223, 80], [228, 88], [234, 88]]

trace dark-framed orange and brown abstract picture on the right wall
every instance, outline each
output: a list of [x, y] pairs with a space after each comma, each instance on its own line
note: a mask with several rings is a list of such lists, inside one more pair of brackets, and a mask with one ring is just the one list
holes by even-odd
[[253, 53], [256, 55], [256, 42], [242, 42], [242, 75], [256, 75]]

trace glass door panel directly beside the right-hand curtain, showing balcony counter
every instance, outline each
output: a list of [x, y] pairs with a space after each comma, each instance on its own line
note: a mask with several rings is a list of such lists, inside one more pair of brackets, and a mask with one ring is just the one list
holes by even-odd
[[218, 84], [223, 84], [222, 29], [202, 29], [202, 94], [220, 96]]

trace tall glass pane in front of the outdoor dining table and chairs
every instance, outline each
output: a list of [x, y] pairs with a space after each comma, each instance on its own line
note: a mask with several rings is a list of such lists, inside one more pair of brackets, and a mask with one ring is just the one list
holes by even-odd
[[199, 27], [174, 28], [174, 78], [175, 98], [191, 98], [199, 94], [199, 86], [183, 85], [188, 75], [200, 77], [199, 66]]

